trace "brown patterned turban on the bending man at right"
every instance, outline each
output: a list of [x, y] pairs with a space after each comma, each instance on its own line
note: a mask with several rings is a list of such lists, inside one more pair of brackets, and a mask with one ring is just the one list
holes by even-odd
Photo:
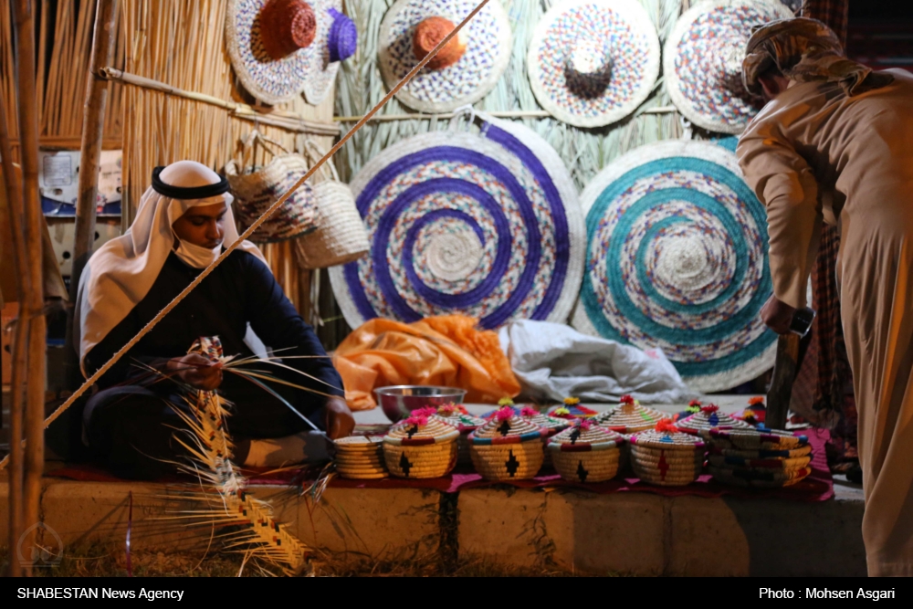
[[753, 29], [742, 61], [745, 88], [760, 97], [758, 77], [772, 66], [798, 82], [839, 82], [849, 96], [885, 87], [894, 80], [890, 74], [873, 72], [847, 59], [831, 28], [806, 17], [778, 19]]

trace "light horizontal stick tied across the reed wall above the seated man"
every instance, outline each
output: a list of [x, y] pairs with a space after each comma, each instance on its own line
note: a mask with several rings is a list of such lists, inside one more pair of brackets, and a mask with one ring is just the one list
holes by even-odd
[[245, 121], [262, 122], [265, 125], [272, 125], [289, 131], [299, 133], [310, 133], [312, 135], [339, 135], [340, 129], [336, 125], [327, 124], [317, 121], [306, 121], [294, 112], [284, 110], [273, 110], [269, 114], [264, 114], [254, 110], [252, 106], [236, 101], [220, 100], [212, 95], [197, 93], [196, 91], [186, 91], [178, 89], [159, 80], [147, 79], [136, 74], [130, 74], [117, 68], [102, 68], [101, 74], [105, 79], [117, 80], [127, 85], [140, 87], [142, 89], [152, 89], [161, 91], [174, 97], [184, 98], [185, 100], [200, 101], [216, 108], [223, 108], [231, 112], [232, 116]]

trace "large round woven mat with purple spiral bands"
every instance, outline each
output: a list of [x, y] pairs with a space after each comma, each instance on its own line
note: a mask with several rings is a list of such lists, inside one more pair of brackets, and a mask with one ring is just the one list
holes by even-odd
[[352, 180], [369, 256], [330, 269], [356, 328], [463, 313], [496, 328], [564, 321], [580, 289], [583, 216], [558, 154], [529, 129], [438, 131], [384, 150]]

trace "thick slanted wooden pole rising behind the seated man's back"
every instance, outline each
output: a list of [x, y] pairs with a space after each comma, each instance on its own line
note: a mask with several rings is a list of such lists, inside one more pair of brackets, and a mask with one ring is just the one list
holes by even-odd
[[101, 141], [108, 105], [108, 81], [100, 76], [101, 69], [110, 65], [114, 56], [117, 22], [117, 0], [97, 0], [95, 5], [95, 32], [89, 74], [86, 78], [86, 102], [82, 117], [82, 144], [79, 148], [79, 198], [76, 202], [76, 237], [73, 245], [73, 270], [69, 279], [69, 304], [67, 307], [68, 385], [77, 386], [82, 380], [79, 373], [78, 346], [73, 344], [73, 311], [79, 292], [82, 269], [89, 262], [95, 244], [95, 210], [99, 195], [99, 165]]

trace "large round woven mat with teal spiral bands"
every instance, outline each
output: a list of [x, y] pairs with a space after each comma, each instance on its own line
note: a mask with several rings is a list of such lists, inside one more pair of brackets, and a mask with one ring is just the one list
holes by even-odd
[[699, 391], [773, 365], [761, 321], [771, 295], [764, 208], [732, 152], [657, 142], [603, 169], [584, 190], [587, 252], [580, 331], [660, 348]]

